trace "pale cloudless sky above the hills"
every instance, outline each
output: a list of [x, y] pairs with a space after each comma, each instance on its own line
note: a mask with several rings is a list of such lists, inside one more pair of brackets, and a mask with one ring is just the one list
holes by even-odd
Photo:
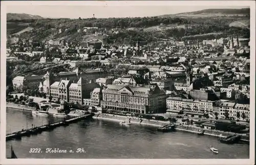
[[[63, 1], [65, 3], [65, 1]], [[203, 9], [241, 9], [245, 6], [7, 6], [7, 13], [26, 13], [45, 18], [147, 17]]]

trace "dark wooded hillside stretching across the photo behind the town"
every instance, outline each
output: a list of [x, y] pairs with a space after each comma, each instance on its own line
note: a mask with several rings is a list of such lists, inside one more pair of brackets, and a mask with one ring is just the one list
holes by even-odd
[[[205, 11], [203, 11], [205, 12]], [[195, 12], [194, 12], [195, 13]], [[196, 12], [198, 14], [198, 12]], [[228, 37], [233, 33], [245, 38], [249, 36], [249, 29], [242, 28], [246, 24], [246, 17], [136, 17], [136, 18], [87, 18], [87, 19], [25, 19], [7, 21], [7, 34], [11, 39], [44, 39], [66, 40], [81, 42], [85, 40], [102, 40], [104, 43], [122, 44], [141, 41], [157, 42], [159, 38], [216, 38]], [[239, 23], [238, 21], [242, 22]], [[235, 22], [235, 25], [231, 23]], [[230, 28], [230, 25], [234, 28]], [[84, 27], [97, 27], [87, 29]], [[98, 32], [99, 35], [95, 35]], [[213, 34], [211, 34], [213, 33]], [[199, 36], [195, 36], [199, 35]]]

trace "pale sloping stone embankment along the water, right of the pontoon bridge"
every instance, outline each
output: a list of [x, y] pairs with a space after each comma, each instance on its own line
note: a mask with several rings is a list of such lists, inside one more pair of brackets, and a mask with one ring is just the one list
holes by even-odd
[[[116, 122], [120, 122], [120, 121], [131, 118], [130, 121], [132, 124], [141, 124], [141, 125], [148, 125], [148, 126], [154, 126], [154, 127], [162, 127], [166, 124], [169, 124], [168, 121], [146, 120], [146, 119], [140, 119], [136, 117], [126, 117], [126, 116], [111, 115], [111, 114], [98, 114], [98, 115], [96, 114], [93, 118], [100, 119], [100, 120], [116, 121]], [[177, 124], [176, 130], [189, 132], [189, 133], [196, 133], [196, 134], [204, 130], [205, 135], [216, 136], [216, 137], [226, 137], [228, 135], [235, 134], [233, 132], [202, 129], [193, 125], [179, 125], [179, 124]], [[249, 136], [242, 135], [242, 141], [249, 142]]]

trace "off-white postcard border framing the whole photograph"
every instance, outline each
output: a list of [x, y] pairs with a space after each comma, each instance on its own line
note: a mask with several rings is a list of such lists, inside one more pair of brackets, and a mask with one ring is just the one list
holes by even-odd
[[[7, 6], [248, 6], [250, 7], [250, 152], [249, 159], [7, 159], [6, 14]], [[166, 13], [167, 14], [167, 13]], [[1, 2], [1, 164], [254, 164], [255, 151], [255, 2], [254, 1], [2, 1]]]

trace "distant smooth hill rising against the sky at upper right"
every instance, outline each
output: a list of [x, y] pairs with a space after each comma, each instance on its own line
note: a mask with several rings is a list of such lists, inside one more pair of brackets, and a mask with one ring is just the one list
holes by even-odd
[[219, 16], [247, 16], [250, 15], [250, 9], [205, 9], [195, 12], [186, 12], [178, 14], [166, 14], [159, 17], [219, 17]]

